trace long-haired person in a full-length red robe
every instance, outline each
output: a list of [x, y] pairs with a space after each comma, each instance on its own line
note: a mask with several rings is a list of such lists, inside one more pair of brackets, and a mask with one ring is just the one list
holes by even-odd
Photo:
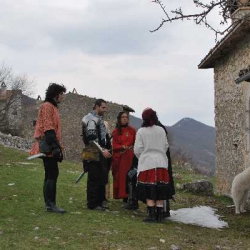
[[122, 111], [117, 116], [116, 128], [112, 133], [112, 174], [114, 199], [128, 199], [126, 193], [126, 175], [134, 157], [133, 146], [136, 130], [129, 126], [129, 114]]

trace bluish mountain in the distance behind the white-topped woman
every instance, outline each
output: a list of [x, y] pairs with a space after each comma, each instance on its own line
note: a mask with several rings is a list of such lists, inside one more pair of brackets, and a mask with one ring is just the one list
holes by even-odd
[[[130, 123], [140, 128], [142, 120], [131, 116]], [[166, 126], [171, 154], [189, 160], [199, 172], [213, 175], [215, 171], [215, 129], [192, 118], [183, 118], [173, 126]]]

